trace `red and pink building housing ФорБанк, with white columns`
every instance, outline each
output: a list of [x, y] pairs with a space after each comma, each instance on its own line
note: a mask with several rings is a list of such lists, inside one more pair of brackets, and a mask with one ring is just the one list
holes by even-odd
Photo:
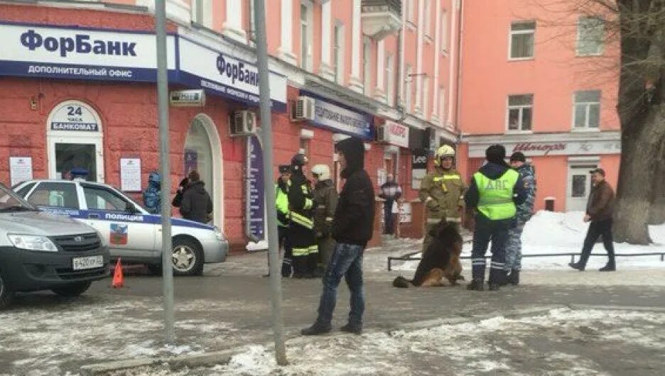
[[[262, 237], [245, 179], [258, 112], [253, 2], [167, 1], [169, 89], [206, 94], [171, 106], [171, 190], [199, 170], [237, 249]], [[458, 142], [459, 2], [266, 3], [276, 164], [301, 150], [338, 173], [335, 142], [358, 136], [377, 189], [393, 173], [414, 199], [423, 166], [412, 161]], [[158, 168], [153, 11], [153, 0], [0, 1], [2, 182], [15, 182], [9, 161], [21, 157], [35, 178], [83, 167], [121, 187], [123, 161], [138, 160], [146, 187]]]

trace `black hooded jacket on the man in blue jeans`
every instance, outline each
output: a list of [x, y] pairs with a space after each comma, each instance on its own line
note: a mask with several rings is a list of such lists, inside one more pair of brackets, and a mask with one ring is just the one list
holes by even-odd
[[333, 220], [333, 238], [337, 243], [367, 245], [374, 230], [374, 187], [364, 170], [364, 145], [358, 138], [337, 143], [347, 160], [342, 171], [346, 179]]

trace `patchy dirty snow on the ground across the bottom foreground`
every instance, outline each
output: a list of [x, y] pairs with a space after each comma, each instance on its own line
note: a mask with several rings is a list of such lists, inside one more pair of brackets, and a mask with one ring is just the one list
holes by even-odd
[[[553, 309], [545, 314], [467, 321], [415, 331], [295, 338], [286, 367], [263, 345], [239, 350], [227, 365], [170, 375], [609, 375], [622, 367], [657, 374], [665, 314]], [[628, 351], [628, 353], [626, 353]], [[634, 358], [641, 354], [644, 359]], [[608, 355], [610, 355], [608, 357]], [[616, 355], [617, 359], [612, 359]], [[624, 357], [625, 358], [622, 358]], [[115, 375], [166, 375], [153, 367]]]

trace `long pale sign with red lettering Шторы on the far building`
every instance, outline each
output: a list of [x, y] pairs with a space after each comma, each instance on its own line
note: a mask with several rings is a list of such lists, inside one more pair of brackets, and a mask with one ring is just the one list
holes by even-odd
[[[620, 140], [586, 140], [586, 141], [556, 141], [552, 143], [541, 142], [512, 142], [501, 143], [506, 153], [524, 153], [527, 157], [547, 155], [597, 155], [621, 153]], [[485, 149], [490, 144], [470, 144], [470, 157], [485, 157]]]

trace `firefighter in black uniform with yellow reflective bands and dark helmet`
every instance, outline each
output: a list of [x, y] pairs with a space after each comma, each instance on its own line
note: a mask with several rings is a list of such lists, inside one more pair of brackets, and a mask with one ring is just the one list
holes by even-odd
[[318, 246], [314, 233], [314, 200], [312, 188], [305, 177], [307, 157], [296, 154], [291, 158], [291, 185], [288, 188], [288, 206], [291, 223], [288, 240], [293, 253], [293, 277], [311, 278], [318, 263]]

